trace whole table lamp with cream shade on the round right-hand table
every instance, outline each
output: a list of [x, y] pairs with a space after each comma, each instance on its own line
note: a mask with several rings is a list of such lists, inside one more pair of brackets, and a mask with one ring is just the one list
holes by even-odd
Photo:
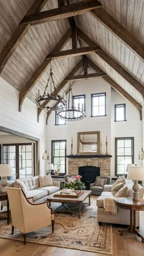
[[140, 166], [129, 166], [128, 169], [128, 180], [133, 180], [134, 185], [132, 189], [134, 190], [132, 199], [139, 200], [139, 183], [138, 181], [144, 180], [144, 167]]

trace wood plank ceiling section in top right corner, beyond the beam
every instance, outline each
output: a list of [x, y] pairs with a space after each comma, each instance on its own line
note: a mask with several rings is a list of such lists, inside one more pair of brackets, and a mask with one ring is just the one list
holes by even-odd
[[123, 27], [144, 43], [144, 1], [143, 0], [99, 0], [104, 9]]

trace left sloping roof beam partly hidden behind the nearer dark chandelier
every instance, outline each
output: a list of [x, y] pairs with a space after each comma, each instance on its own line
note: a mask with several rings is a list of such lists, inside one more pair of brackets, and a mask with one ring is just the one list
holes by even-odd
[[[73, 76], [74, 73], [76, 73], [76, 71], [82, 67], [82, 64], [83, 64], [83, 60], [80, 60], [79, 63], [73, 68], [73, 70], [71, 70], [70, 72], [70, 76]], [[59, 93], [60, 90], [62, 90], [62, 88], [65, 86], [65, 84], [67, 84], [68, 81], [65, 81], [65, 79], [60, 82], [59, 86], [57, 86], [56, 88], [56, 93]], [[52, 93], [55, 93], [54, 91]], [[42, 107], [44, 108], [48, 103], [49, 103], [50, 100], [45, 100], [44, 103], [42, 104]], [[43, 109], [41, 108], [38, 108], [38, 115], [37, 115], [37, 121], [39, 120], [39, 115], [41, 113]]]

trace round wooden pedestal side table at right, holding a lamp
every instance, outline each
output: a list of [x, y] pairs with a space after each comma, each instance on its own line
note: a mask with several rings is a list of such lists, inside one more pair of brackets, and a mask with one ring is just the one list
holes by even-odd
[[130, 210], [130, 225], [127, 230], [118, 230], [120, 235], [124, 232], [135, 233], [137, 236], [142, 238], [142, 243], [144, 243], [144, 237], [140, 235], [139, 230], [137, 230], [135, 211], [144, 211], [144, 199], [132, 200], [132, 197], [117, 197], [114, 198], [117, 207]]

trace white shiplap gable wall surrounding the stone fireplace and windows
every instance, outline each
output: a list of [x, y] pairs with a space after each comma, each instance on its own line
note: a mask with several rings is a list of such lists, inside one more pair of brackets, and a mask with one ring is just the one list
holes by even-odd
[[[107, 116], [90, 117], [91, 115], [91, 93], [107, 93]], [[108, 153], [111, 158], [111, 175], [115, 176], [115, 137], [134, 137], [134, 159], [135, 163], [142, 166], [139, 160], [139, 151], [143, 146], [143, 122], [140, 121], [137, 109], [125, 100], [115, 90], [111, 90], [109, 84], [103, 78], [92, 78], [76, 81], [73, 85], [73, 95], [85, 94], [86, 117], [77, 122], [67, 122], [66, 125], [54, 125], [55, 113], [52, 112], [48, 119], [48, 150], [51, 155], [51, 141], [56, 139], [67, 139], [67, 155], [71, 151], [71, 137], [73, 137], [73, 154], [77, 153], [77, 132], [100, 131], [102, 152], [106, 153], [106, 135], [108, 141]], [[114, 104], [126, 103], [126, 122], [114, 122]], [[68, 171], [68, 167], [67, 167]]]

